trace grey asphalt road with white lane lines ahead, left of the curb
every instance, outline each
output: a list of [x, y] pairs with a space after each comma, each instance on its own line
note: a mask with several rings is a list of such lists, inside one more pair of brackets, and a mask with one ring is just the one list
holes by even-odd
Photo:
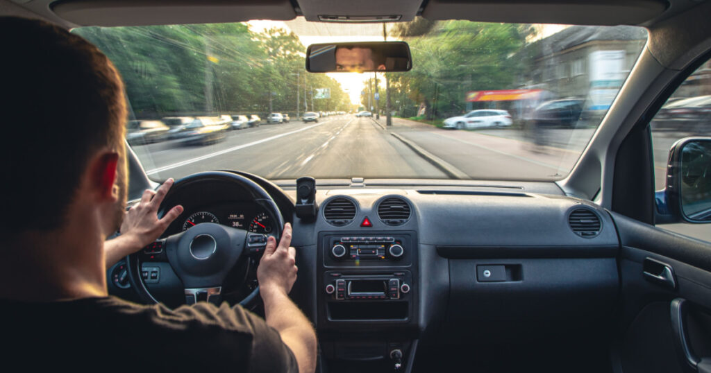
[[230, 131], [210, 146], [164, 141], [134, 146], [156, 180], [208, 170], [240, 170], [269, 180], [314, 178], [447, 178], [368, 118], [327, 117]]

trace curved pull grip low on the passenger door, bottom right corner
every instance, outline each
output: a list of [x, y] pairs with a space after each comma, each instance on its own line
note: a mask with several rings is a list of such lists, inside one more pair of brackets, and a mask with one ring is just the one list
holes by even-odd
[[711, 358], [697, 357], [691, 349], [688, 329], [684, 323], [688, 301], [675, 298], [671, 301], [671, 328], [674, 335], [674, 347], [684, 372], [711, 373]]

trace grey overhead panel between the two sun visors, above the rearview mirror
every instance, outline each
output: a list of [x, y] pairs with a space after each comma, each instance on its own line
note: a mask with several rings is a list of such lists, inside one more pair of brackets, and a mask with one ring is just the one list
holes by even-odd
[[306, 21], [388, 22], [412, 21], [422, 0], [299, 0]]

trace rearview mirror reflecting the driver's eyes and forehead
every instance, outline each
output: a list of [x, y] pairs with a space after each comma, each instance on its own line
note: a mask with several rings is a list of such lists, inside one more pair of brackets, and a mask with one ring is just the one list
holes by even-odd
[[309, 72], [396, 72], [412, 69], [404, 41], [312, 44], [306, 50]]

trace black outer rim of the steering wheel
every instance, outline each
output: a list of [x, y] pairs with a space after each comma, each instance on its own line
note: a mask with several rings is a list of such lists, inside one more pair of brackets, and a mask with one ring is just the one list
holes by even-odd
[[[269, 217], [271, 217], [274, 222], [276, 222], [276, 227], [274, 227], [274, 232], [273, 236], [274, 238], [277, 239], [277, 242], [279, 242], [279, 239], [282, 237], [282, 229], [284, 227], [284, 217], [282, 217], [282, 213], [279, 210], [279, 207], [277, 206], [277, 203], [274, 202], [274, 199], [272, 198], [269, 193], [267, 193], [264, 188], [262, 188], [260, 185], [255, 183], [254, 181], [250, 180], [249, 178], [246, 178], [245, 176], [239, 175], [237, 173], [230, 173], [230, 172], [225, 172], [225, 171], [208, 171], [208, 172], [202, 172], [202, 173], [195, 173], [193, 175], [188, 175], [185, 178], [181, 178], [180, 180], [176, 180], [176, 182], [173, 184], [171, 187], [171, 190], [169, 190], [168, 193], [166, 193], [166, 196], [164, 198], [163, 203], [161, 203], [161, 206], [158, 209], [158, 216], [162, 217], [172, 206], [168, 206], [166, 202], [171, 202], [171, 197], [178, 193], [180, 190], [183, 188], [186, 188], [188, 185], [192, 185], [194, 183], [205, 183], [206, 181], [210, 180], [219, 180], [222, 182], [228, 182], [228, 183], [233, 183], [240, 187], [242, 190], [247, 190], [247, 193], [250, 193], [250, 197], [252, 198], [252, 201], [257, 203], [258, 205], [264, 207], [264, 210], [267, 211], [267, 214]], [[173, 203], [171, 202], [171, 205]], [[207, 223], [206, 223], [207, 224]], [[235, 229], [235, 228], [229, 228], [225, 227], [228, 229]], [[235, 229], [235, 230], [242, 230], [242, 229]], [[181, 234], [184, 232], [181, 232]], [[174, 234], [173, 236], [176, 236], [178, 234]], [[166, 237], [166, 241], [167, 241]], [[166, 249], [167, 250], [167, 249]], [[136, 292], [138, 293], [139, 298], [141, 298], [141, 301], [144, 301], [145, 303], [160, 303], [154, 296], [151, 294], [151, 291], [149, 291], [148, 287], [146, 286], [145, 281], [143, 280], [143, 277], [140, 275], [141, 274], [141, 264], [142, 261], [140, 259], [139, 252], [135, 252], [133, 254], [129, 254], [126, 257], [126, 262], [127, 262], [127, 272], [129, 275], [129, 281], [131, 281], [132, 285], [136, 289]], [[171, 269], [173, 271], [176, 271], [175, 267], [173, 264], [171, 264], [171, 261], [167, 261], [169, 266], [171, 266]], [[181, 279], [182, 281], [182, 279]], [[242, 301], [240, 301], [240, 305], [244, 307], [249, 307], [252, 306], [257, 300], [258, 296], [260, 293], [260, 287], [257, 285], [257, 287], [249, 294], [247, 295]], [[196, 299], [197, 301], [197, 299]]]

